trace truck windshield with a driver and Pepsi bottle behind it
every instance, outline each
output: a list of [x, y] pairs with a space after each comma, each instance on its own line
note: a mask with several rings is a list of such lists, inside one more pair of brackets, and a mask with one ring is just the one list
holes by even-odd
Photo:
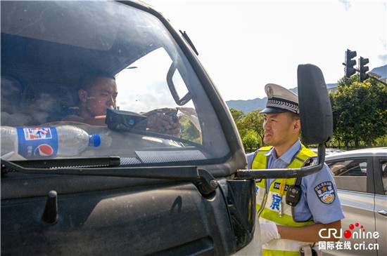
[[230, 155], [196, 72], [146, 7], [1, 1], [3, 159], [155, 166]]

